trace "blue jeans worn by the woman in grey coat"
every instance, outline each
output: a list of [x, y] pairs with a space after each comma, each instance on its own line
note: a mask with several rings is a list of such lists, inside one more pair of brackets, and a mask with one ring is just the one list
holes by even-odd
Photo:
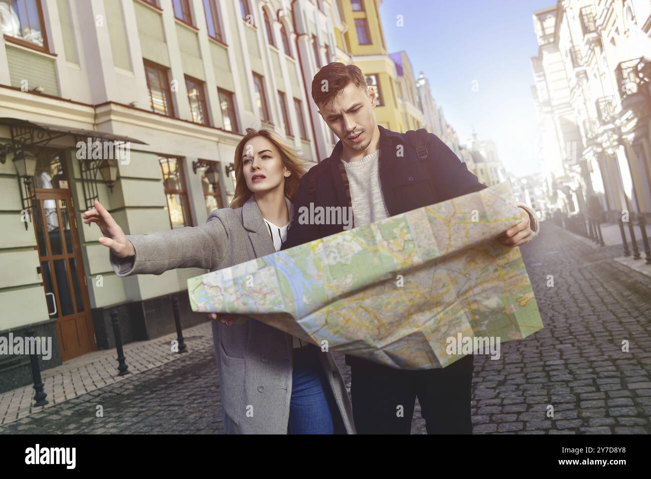
[[294, 349], [292, 399], [289, 408], [290, 434], [333, 434], [335, 406], [324, 370], [314, 346]]

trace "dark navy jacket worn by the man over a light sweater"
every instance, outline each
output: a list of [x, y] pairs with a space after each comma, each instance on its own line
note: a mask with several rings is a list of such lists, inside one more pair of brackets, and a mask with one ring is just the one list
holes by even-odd
[[[405, 133], [380, 129], [380, 185], [384, 201], [391, 216], [415, 210], [422, 206], [473, 193], [487, 186], [481, 184], [477, 176], [468, 171], [464, 162], [448, 148], [434, 133], [429, 133], [428, 157], [421, 161], [411, 147]], [[398, 157], [399, 145], [404, 156]], [[339, 141], [331, 156], [312, 167], [303, 175], [294, 199], [294, 217], [287, 230], [287, 238], [281, 249], [324, 238], [344, 230], [344, 225], [301, 225], [298, 222], [299, 209], [314, 198], [314, 206], [349, 205], [350, 192], [345, 170], [342, 174], [340, 157], [343, 145]], [[429, 169], [431, 175], [428, 174]], [[431, 176], [431, 178], [430, 178]], [[310, 178], [316, 182], [316, 194], [311, 197]], [[354, 211], [353, 211], [354, 216]], [[357, 366], [370, 361], [346, 355], [346, 363]]]

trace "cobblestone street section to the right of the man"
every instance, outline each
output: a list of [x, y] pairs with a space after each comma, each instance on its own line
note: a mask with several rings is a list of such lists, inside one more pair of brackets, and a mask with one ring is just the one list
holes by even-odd
[[545, 327], [475, 358], [475, 433], [651, 432], [651, 279], [583, 240], [545, 222], [521, 248]]

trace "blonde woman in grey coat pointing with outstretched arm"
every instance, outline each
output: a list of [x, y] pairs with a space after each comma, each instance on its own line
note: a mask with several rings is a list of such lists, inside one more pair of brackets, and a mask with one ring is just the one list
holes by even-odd
[[[100, 226], [99, 242], [111, 249], [118, 276], [177, 267], [215, 271], [278, 251], [305, 171], [298, 154], [273, 131], [247, 128], [235, 171], [230, 208], [214, 210], [202, 226], [125, 236], [97, 201], [82, 217]], [[219, 315], [212, 332], [227, 433], [355, 432], [330, 353], [245, 316]]]

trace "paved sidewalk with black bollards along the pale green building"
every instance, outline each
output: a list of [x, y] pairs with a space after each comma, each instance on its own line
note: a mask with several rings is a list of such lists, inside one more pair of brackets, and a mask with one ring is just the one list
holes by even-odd
[[92, 390], [117, 383], [126, 377], [148, 371], [205, 348], [212, 348], [210, 322], [183, 331], [187, 353], [171, 351], [176, 333], [124, 346], [124, 357], [131, 374], [118, 376], [117, 351], [103, 349], [66, 361], [61, 366], [41, 372], [48, 404], [36, 407], [33, 383], [0, 394], [0, 424], [8, 424], [25, 416], [61, 404]]

